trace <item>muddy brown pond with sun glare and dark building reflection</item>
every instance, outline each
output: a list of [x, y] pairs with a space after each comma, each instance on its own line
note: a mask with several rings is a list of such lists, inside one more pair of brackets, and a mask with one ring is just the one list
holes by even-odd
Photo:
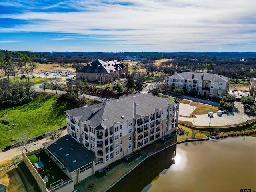
[[164, 150], [118, 182], [110, 192], [256, 190], [256, 138], [188, 142]]

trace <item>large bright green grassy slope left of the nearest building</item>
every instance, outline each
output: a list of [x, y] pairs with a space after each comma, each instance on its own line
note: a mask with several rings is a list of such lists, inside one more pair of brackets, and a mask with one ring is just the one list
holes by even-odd
[[0, 149], [16, 143], [17, 135], [21, 132], [28, 131], [31, 137], [37, 137], [50, 129], [64, 126], [64, 111], [76, 107], [58, 95], [40, 93], [28, 104], [0, 108]]

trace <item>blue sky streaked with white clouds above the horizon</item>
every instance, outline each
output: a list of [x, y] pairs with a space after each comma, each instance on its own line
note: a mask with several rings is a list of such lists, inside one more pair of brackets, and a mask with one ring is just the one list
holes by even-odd
[[1, 0], [0, 49], [256, 52], [255, 0]]

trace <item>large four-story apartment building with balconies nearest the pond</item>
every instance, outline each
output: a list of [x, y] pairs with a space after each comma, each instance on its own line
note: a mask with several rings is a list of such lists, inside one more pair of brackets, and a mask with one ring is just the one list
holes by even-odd
[[101, 167], [176, 131], [179, 102], [135, 94], [66, 111], [68, 134]]

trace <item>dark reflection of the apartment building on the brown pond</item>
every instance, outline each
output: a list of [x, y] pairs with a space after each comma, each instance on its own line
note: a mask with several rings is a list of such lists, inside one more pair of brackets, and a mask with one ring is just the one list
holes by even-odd
[[174, 145], [147, 158], [108, 192], [141, 192], [145, 186], [156, 181], [159, 174], [164, 173], [163, 170], [168, 170], [174, 164], [176, 148], [177, 146]]

